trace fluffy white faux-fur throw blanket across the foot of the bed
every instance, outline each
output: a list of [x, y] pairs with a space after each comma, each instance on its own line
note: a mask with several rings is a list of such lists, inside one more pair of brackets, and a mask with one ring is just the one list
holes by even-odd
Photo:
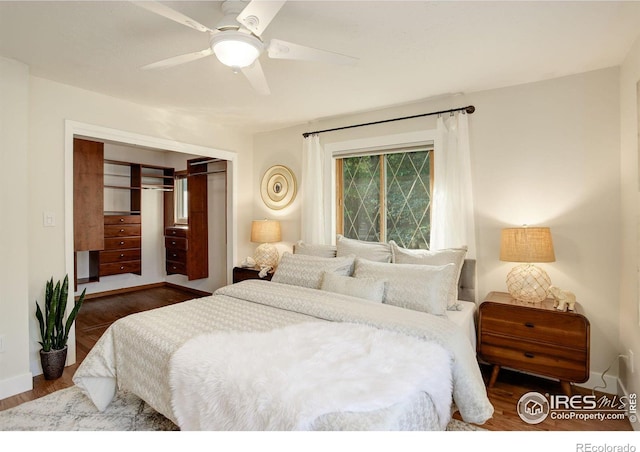
[[173, 355], [169, 378], [182, 430], [310, 430], [322, 415], [388, 408], [419, 391], [440, 428], [451, 418], [441, 346], [353, 323], [197, 336]]

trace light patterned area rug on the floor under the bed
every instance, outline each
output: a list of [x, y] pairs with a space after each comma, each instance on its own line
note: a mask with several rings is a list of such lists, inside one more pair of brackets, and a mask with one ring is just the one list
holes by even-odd
[[[100, 413], [76, 386], [0, 411], [2, 431], [175, 431], [178, 427], [137, 396], [119, 391]], [[452, 419], [447, 430], [484, 430]]]

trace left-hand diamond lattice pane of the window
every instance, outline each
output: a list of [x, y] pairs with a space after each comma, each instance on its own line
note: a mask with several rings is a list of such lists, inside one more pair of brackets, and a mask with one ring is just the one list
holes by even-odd
[[344, 236], [380, 241], [380, 157], [343, 161]]

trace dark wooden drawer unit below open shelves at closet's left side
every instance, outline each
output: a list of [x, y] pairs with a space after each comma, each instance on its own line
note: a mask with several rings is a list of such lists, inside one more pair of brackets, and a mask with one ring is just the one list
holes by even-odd
[[142, 274], [140, 215], [104, 216], [104, 251], [100, 251], [100, 276]]

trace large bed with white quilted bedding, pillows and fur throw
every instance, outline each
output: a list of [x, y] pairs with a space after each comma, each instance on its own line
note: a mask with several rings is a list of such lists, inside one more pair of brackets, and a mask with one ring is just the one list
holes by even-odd
[[[131, 391], [182, 430], [443, 430], [455, 410], [467, 422], [491, 417], [475, 303], [458, 299], [473, 295], [473, 261], [451, 269], [300, 248], [283, 255], [271, 282], [118, 320], [74, 383], [99, 410], [118, 389]], [[432, 287], [455, 277], [455, 299], [446, 283], [426, 305], [392, 304], [393, 285], [379, 271], [400, 282], [432, 272], [420, 278], [421, 293], [424, 279]], [[395, 284], [399, 304], [410, 298], [406, 286]]]

